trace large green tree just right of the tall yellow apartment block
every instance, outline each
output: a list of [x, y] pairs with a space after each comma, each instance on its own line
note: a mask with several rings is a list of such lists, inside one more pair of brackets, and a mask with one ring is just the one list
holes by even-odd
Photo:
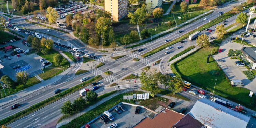
[[129, 12], [128, 17], [130, 19], [130, 23], [132, 24], [141, 24], [146, 19], [146, 5], [142, 4], [141, 8], [138, 8], [134, 13]]

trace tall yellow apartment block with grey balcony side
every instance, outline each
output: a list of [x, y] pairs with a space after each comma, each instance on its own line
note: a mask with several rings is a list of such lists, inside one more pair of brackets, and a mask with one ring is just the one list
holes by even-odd
[[127, 14], [127, 0], [105, 0], [104, 9], [111, 13], [111, 20], [119, 21]]

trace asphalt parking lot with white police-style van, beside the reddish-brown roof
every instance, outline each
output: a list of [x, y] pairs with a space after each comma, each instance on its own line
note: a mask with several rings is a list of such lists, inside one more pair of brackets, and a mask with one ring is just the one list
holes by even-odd
[[95, 122], [89, 124], [92, 128], [106, 128], [111, 124], [117, 123], [118, 128], [129, 128], [137, 123], [139, 123], [143, 118], [150, 115], [152, 112], [141, 108], [139, 114], [135, 114], [135, 106], [124, 105], [127, 109], [123, 111], [121, 114], [118, 114], [114, 109], [110, 111], [110, 113], [115, 117], [115, 119], [111, 122], [109, 121], [106, 124], [103, 124], [100, 119], [97, 119]]

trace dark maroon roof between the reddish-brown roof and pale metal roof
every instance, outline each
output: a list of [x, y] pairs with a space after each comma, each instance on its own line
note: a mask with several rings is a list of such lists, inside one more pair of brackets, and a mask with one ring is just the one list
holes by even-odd
[[203, 124], [201, 122], [188, 113], [174, 125], [174, 128], [202, 128], [202, 126]]

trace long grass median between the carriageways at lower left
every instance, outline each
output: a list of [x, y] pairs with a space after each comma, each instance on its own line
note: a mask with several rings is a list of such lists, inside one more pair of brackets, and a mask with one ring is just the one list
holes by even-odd
[[87, 81], [85, 81], [85, 82], [83, 82], [81, 84], [78, 84], [78, 85], [76, 85], [76, 86], [74, 86], [72, 88], [69, 88], [69, 89], [67, 89], [67, 90], [65, 90], [65, 91], [63, 91], [63, 92], [61, 92], [61, 93], [59, 93], [57, 95], [54, 95], [54, 96], [52, 96], [52, 97], [50, 97], [50, 98], [48, 98], [48, 99], [46, 99], [44, 101], [41, 101], [41, 102], [39, 102], [37, 104], [34, 104], [33, 106], [30, 106], [29, 108], [27, 108], [25, 110], [22, 110], [22, 111], [14, 114], [12, 116], [9, 116], [9, 117], [7, 117], [5, 119], [0, 120], [0, 125], [10, 124], [11, 122], [13, 122], [13, 121], [15, 121], [15, 120], [17, 120], [19, 118], [22, 118], [23, 116], [26, 116], [27, 114], [30, 114], [30, 113], [32, 113], [34, 111], [37, 111], [37, 110], [43, 108], [44, 106], [46, 106], [48, 104], [51, 104], [51, 103], [53, 103], [53, 102], [55, 102], [55, 101], [57, 101], [57, 100], [59, 100], [59, 99], [61, 99], [63, 97], [66, 97], [66, 96], [68, 96], [68, 95], [78, 91], [81, 88], [84, 88], [82, 85], [84, 85], [86, 87], [88, 85], [91, 85], [92, 82], [97, 82], [97, 81], [101, 80], [102, 78], [103, 77], [100, 76], [100, 75], [95, 76], [92, 79], [89, 79], [89, 80], [87, 80]]

